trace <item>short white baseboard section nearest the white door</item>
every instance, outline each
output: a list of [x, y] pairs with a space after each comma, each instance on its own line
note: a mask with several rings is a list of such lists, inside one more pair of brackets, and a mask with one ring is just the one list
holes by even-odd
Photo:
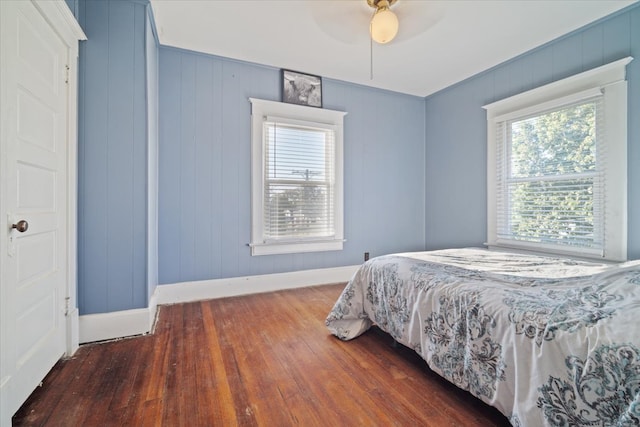
[[143, 335], [152, 331], [158, 307], [156, 292], [149, 307], [111, 313], [85, 314], [79, 319], [80, 344]]

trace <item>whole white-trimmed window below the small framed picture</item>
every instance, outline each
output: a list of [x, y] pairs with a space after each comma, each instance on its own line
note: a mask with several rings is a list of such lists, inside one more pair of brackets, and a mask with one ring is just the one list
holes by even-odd
[[341, 250], [346, 113], [251, 101], [251, 254]]

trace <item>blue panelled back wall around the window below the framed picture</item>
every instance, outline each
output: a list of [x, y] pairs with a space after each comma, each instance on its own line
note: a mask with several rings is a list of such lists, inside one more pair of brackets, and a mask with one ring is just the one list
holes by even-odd
[[280, 70], [173, 48], [159, 68], [160, 283], [424, 248], [424, 99], [324, 79], [324, 107], [348, 112], [344, 250], [252, 257], [248, 98], [279, 100]]

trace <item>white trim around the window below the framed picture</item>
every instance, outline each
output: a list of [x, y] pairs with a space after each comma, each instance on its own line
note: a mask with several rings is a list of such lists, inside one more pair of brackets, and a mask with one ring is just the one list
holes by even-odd
[[[302, 252], [342, 250], [344, 243], [343, 214], [343, 111], [306, 107], [297, 104], [249, 98], [251, 102], [251, 255], [276, 255]], [[335, 129], [335, 236], [331, 239], [300, 241], [264, 241], [264, 147], [262, 123], [264, 117], [283, 117], [288, 121], [321, 123]]]

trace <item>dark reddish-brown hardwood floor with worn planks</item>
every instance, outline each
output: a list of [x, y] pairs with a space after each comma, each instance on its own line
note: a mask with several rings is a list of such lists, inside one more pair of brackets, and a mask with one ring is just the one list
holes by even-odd
[[507, 426], [378, 329], [324, 319], [344, 285], [162, 306], [154, 334], [81, 346], [16, 426]]

